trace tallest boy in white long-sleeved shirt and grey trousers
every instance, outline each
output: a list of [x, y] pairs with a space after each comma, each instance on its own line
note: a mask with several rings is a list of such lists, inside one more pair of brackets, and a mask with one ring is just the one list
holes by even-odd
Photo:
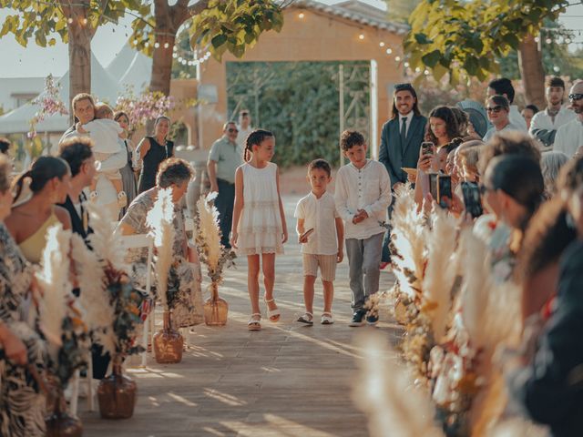
[[364, 305], [379, 290], [381, 252], [387, 208], [391, 204], [391, 179], [383, 164], [366, 158], [362, 134], [345, 130], [340, 138], [350, 163], [338, 170], [334, 201], [344, 220], [346, 255], [353, 292], [353, 320], [376, 324], [378, 315], [366, 315]]

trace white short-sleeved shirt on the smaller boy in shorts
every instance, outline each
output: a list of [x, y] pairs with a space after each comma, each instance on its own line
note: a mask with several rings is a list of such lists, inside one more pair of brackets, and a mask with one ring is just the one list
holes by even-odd
[[336, 223], [334, 219], [340, 217], [336, 212], [334, 197], [324, 192], [320, 198], [310, 192], [301, 198], [295, 208], [293, 216], [303, 219], [303, 228], [312, 229], [308, 242], [302, 244], [302, 253], [314, 255], [336, 255], [338, 241], [336, 240]]

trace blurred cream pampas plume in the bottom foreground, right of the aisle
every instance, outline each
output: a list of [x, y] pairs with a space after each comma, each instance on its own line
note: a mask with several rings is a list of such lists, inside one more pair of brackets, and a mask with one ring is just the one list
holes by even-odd
[[364, 334], [359, 378], [353, 398], [369, 417], [373, 437], [443, 437], [433, 421], [428, 393], [414, 386], [381, 334]]

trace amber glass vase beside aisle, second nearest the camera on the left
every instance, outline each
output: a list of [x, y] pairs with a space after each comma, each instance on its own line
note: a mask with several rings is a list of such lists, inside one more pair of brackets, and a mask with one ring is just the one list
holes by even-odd
[[121, 357], [113, 359], [112, 372], [99, 382], [97, 400], [103, 419], [129, 419], [134, 415], [138, 386], [123, 375]]

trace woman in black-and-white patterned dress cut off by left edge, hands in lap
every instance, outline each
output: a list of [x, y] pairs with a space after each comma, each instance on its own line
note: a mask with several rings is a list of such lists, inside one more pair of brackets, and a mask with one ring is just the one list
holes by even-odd
[[46, 400], [31, 370], [42, 370], [45, 348], [24, 317], [33, 270], [4, 224], [11, 171], [0, 157], [0, 435], [34, 437], [45, 435]]

